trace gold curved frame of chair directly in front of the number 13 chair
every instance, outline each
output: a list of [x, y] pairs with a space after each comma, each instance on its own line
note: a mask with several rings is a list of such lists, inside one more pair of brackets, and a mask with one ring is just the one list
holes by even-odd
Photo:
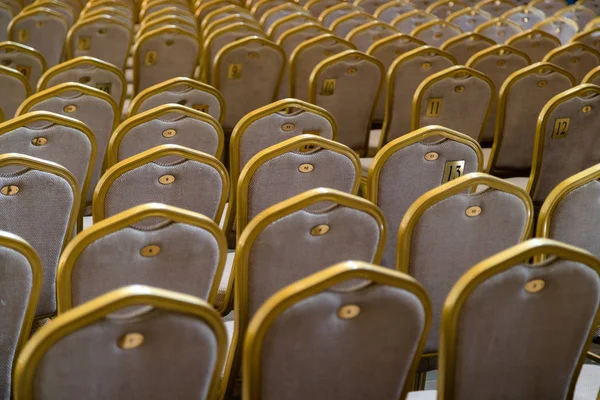
[[398, 252], [396, 254], [396, 269], [398, 271], [409, 273], [412, 234], [423, 214], [440, 201], [460, 194], [470, 188], [474, 188], [477, 185], [489, 186], [490, 188], [501, 190], [518, 197], [527, 210], [527, 221], [525, 222], [520, 241], [522, 242], [530, 236], [533, 227], [533, 202], [525, 190], [504, 179], [496, 178], [495, 176], [484, 174], [482, 172], [466, 174], [431, 189], [419, 197], [408, 208], [406, 214], [404, 214], [404, 217], [402, 218], [402, 222], [400, 222], [400, 228], [398, 230]]

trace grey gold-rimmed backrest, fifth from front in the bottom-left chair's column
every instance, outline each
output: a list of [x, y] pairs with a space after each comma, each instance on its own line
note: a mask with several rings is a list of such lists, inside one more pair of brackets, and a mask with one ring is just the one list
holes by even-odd
[[127, 117], [155, 107], [177, 103], [211, 115], [219, 122], [225, 118], [225, 99], [214, 87], [190, 78], [173, 78], [138, 93]]

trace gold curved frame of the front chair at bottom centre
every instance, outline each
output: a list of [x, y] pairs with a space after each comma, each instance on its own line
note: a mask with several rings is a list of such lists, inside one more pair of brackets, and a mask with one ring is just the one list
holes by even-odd
[[[243, 394], [245, 398], [260, 398], [261, 396], [261, 353], [262, 345], [268, 329], [276, 318], [295, 303], [314, 296], [332, 286], [347, 282], [350, 279], [367, 280], [376, 284], [389, 285], [401, 288], [417, 297], [425, 313], [425, 323], [421, 338], [415, 349], [415, 355], [410, 364], [407, 377], [416, 373], [419, 364], [419, 355], [422, 353], [427, 334], [431, 326], [431, 302], [425, 289], [410, 276], [399, 274], [387, 268], [377, 267], [359, 261], [347, 261], [329, 267], [316, 274], [302, 279], [294, 285], [287, 286], [273, 295], [261, 306], [248, 326], [243, 357]], [[411, 379], [407, 378], [400, 397], [404, 398], [411, 389]]]

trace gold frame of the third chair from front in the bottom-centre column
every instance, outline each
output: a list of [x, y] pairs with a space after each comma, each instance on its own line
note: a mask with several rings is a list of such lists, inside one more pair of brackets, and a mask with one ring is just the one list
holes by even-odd
[[354, 164], [355, 177], [352, 194], [356, 194], [360, 185], [361, 166], [358, 155], [348, 146], [316, 135], [298, 135], [277, 143], [256, 153], [242, 168], [237, 184], [236, 235], [240, 238], [248, 224], [248, 189], [254, 173], [267, 161], [282, 154], [297, 150], [305, 145], [314, 145], [319, 149], [334, 151], [346, 156]]

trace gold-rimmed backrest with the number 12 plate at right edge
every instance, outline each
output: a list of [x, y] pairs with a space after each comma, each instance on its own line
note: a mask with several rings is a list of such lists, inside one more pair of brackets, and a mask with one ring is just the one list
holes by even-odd
[[554, 96], [540, 112], [527, 186], [535, 203], [541, 204], [558, 183], [600, 162], [594, 129], [600, 123], [599, 102], [600, 87], [585, 84]]

